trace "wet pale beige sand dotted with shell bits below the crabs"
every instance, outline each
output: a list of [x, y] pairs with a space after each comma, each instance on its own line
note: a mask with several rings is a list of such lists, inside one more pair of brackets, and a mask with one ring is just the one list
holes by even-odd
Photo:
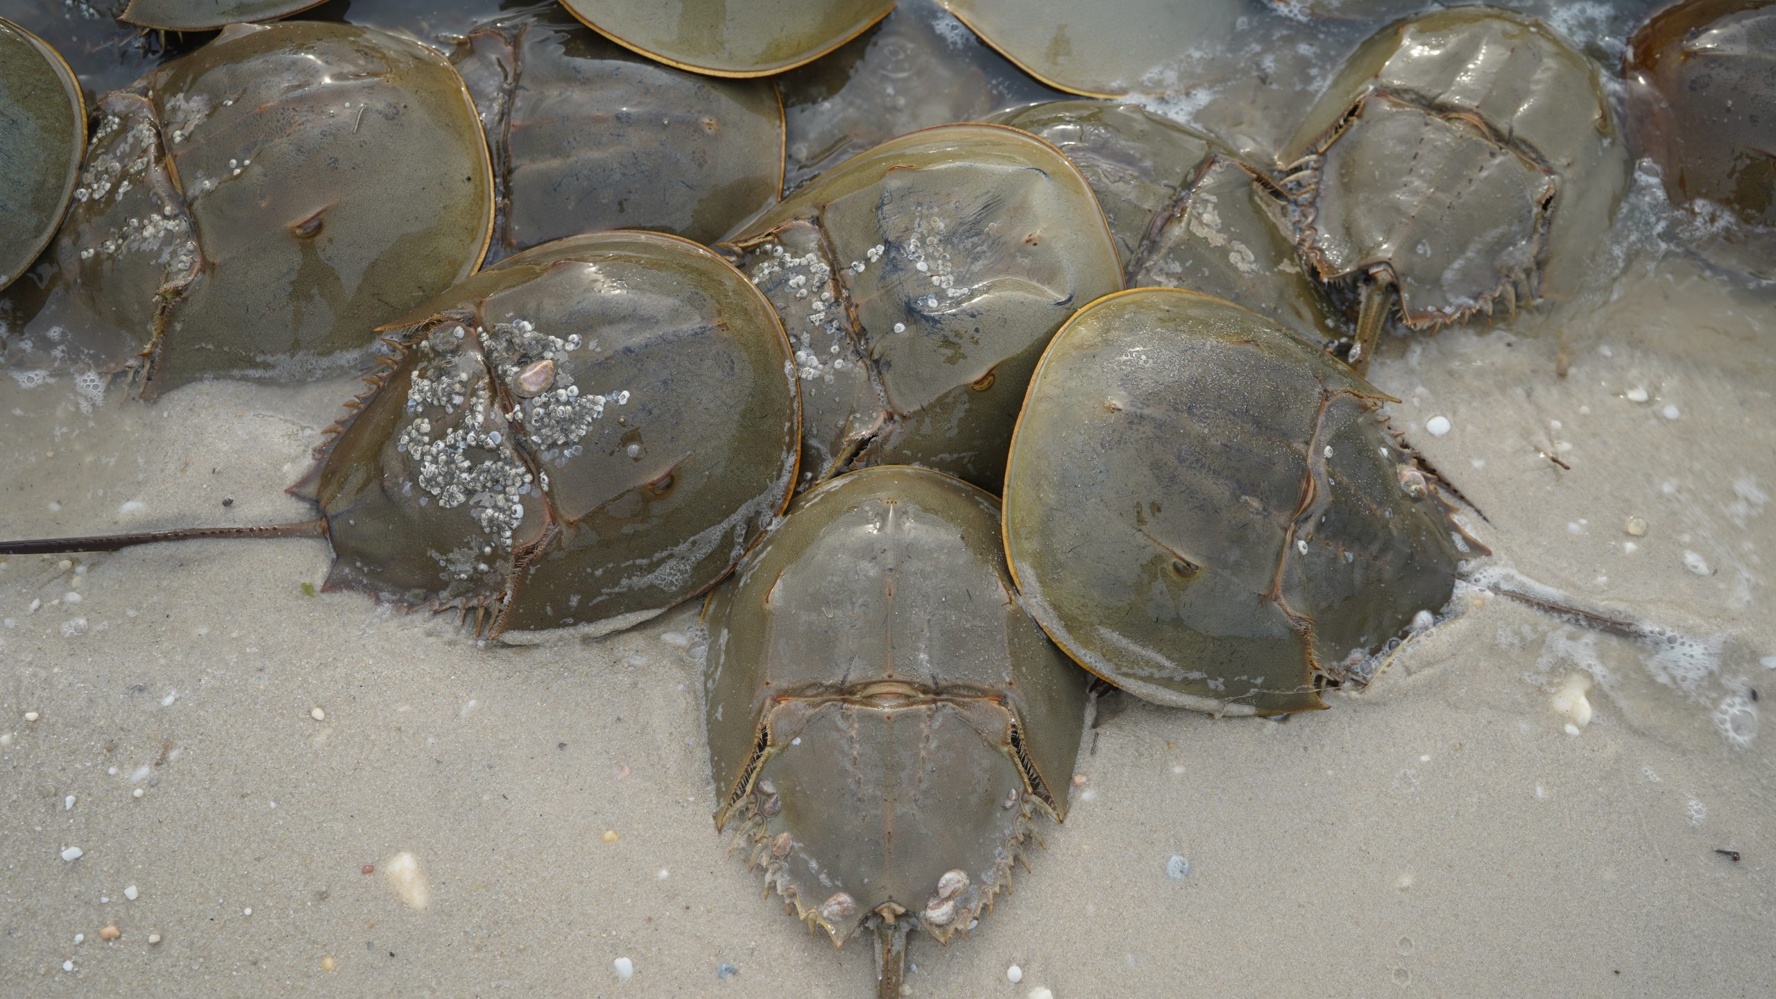
[[[1561, 7], [1607, 53], [1645, 5]], [[1169, 107], [1213, 126], [1222, 100]], [[913, 992], [1756, 994], [1776, 292], [1696, 263], [1684, 224], [1637, 178], [1586, 293], [1385, 338], [1394, 427], [1494, 551], [1476, 585], [1328, 711], [1106, 699], [1066, 827], [970, 939], [915, 939]], [[0, 537], [302, 519], [282, 489], [355, 388], [144, 405], [0, 370]], [[309, 595], [327, 563], [318, 540], [0, 556], [0, 992], [872, 992], [868, 949], [801, 931], [712, 828], [696, 608], [485, 645]]]

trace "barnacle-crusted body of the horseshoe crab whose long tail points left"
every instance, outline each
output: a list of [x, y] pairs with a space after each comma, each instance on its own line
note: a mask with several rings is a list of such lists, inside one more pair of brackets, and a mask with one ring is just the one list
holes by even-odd
[[494, 635], [623, 627], [721, 579], [789, 501], [789, 341], [714, 252], [593, 233], [407, 316], [298, 492], [329, 587], [474, 610]]

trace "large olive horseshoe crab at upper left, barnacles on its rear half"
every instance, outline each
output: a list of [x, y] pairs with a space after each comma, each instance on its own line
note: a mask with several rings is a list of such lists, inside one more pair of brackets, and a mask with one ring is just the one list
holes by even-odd
[[98, 110], [57, 260], [94, 320], [140, 343], [144, 396], [361, 363], [377, 325], [487, 249], [474, 103], [414, 41], [234, 25]]

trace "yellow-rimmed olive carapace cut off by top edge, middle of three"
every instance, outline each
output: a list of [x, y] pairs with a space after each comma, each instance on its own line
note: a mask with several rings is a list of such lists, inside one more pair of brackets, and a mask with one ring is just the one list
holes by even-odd
[[893, 0], [561, 0], [561, 5], [625, 48], [710, 76], [794, 69], [893, 11]]

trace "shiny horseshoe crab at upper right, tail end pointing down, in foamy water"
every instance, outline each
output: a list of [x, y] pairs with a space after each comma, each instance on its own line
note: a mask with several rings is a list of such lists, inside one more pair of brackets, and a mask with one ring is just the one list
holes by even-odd
[[1284, 164], [1325, 279], [1387, 267], [1410, 325], [1581, 283], [1627, 188], [1595, 62], [1540, 21], [1462, 7], [1391, 25], [1346, 60]]

